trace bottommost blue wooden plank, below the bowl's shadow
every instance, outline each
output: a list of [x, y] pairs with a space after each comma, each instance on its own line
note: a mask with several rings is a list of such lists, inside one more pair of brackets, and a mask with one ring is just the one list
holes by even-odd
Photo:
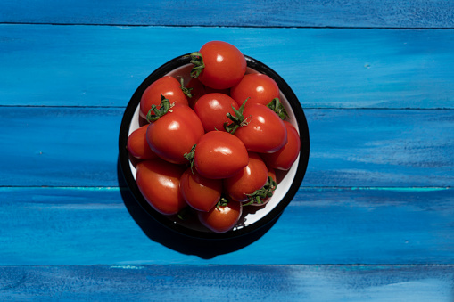
[[2, 300], [452, 301], [451, 265], [0, 266]]

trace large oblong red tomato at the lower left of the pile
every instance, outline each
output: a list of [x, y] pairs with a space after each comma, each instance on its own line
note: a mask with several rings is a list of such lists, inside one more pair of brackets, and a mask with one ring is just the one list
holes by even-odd
[[179, 179], [186, 167], [162, 159], [150, 159], [137, 164], [136, 183], [144, 199], [164, 215], [177, 214], [186, 207], [179, 191]]

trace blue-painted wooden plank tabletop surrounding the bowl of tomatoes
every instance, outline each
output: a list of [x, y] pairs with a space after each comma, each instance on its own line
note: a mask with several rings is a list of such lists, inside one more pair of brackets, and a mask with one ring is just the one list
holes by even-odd
[[[150, 219], [118, 135], [136, 87], [224, 40], [310, 128], [297, 195], [213, 247]], [[0, 300], [454, 300], [454, 3], [0, 3]]]

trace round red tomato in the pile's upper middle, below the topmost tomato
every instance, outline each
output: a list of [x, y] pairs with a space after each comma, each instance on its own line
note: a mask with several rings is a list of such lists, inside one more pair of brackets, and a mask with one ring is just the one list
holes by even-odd
[[229, 123], [227, 113], [234, 114], [232, 106], [238, 110], [235, 100], [227, 94], [204, 94], [194, 106], [194, 111], [202, 121], [206, 132], [224, 129], [224, 123]]

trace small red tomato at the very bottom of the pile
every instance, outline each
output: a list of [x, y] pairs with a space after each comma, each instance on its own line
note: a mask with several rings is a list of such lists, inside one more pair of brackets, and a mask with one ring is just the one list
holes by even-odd
[[220, 204], [211, 208], [209, 212], [198, 212], [200, 222], [216, 233], [230, 231], [243, 213], [241, 202], [229, 200], [228, 203]]

